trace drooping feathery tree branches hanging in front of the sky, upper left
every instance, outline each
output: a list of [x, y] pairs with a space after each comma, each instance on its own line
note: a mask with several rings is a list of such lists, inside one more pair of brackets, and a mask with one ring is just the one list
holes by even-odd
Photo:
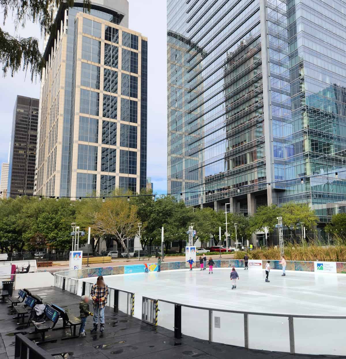
[[[62, 3], [68, 6], [74, 5], [74, 0], [0, 0], [0, 9], [4, 14], [4, 24], [9, 13], [12, 14], [16, 29], [21, 25], [25, 27], [26, 21], [39, 23], [43, 37], [55, 32], [56, 24], [54, 15], [56, 9]], [[91, 1], [83, 0], [83, 10], [90, 11]], [[0, 62], [3, 72], [11, 71], [11, 75], [20, 69], [31, 73], [31, 80], [39, 77], [41, 80], [42, 69], [45, 66], [42, 53], [39, 51], [38, 39], [34, 37], [22, 38], [11, 35], [0, 28]]]

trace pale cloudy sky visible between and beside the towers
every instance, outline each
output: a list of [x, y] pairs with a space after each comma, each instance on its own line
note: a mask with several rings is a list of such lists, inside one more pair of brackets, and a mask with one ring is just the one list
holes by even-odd
[[[114, 0], [116, 1], [116, 0]], [[167, 193], [167, 43], [166, 1], [129, 0], [129, 27], [148, 37], [148, 172], [154, 182], [154, 192]], [[1, 11], [1, 9], [0, 9]], [[14, 34], [9, 17], [4, 31]], [[41, 38], [39, 26], [27, 23], [18, 30], [19, 36]], [[43, 47], [41, 40], [41, 48]], [[0, 70], [1, 71], [1, 70]], [[0, 163], [8, 161], [13, 108], [17, 95], [39, 98], [40, 84], [31, 83], [23, 72], [12, 78], [0, 77]], [[1, 171], [1, 168], [0, 168]]]

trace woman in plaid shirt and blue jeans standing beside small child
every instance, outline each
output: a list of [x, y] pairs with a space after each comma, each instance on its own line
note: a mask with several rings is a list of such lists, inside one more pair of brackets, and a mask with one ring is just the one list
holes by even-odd
[[103, 276], [97, 277], [97, 282], [92, 286], [91, 293], [94, 307], [94, 327], [91, 333], [97, 331], [98, 321], [100, 320], [100, 332], [104, 330], [104, 307], [107, 304], [108, 286], [104, 283]]

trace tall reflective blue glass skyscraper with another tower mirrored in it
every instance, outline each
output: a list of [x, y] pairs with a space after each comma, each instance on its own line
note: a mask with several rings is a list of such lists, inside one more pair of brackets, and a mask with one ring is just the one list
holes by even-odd
[[346, 3], [168, 0], [168, 193], [346, 212]]

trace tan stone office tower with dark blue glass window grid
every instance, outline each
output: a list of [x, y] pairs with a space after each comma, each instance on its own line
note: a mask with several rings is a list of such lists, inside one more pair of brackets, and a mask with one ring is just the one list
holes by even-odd
[[107, 196], [146, 187], [147, 38], [128, 29], [128, 1], [61, 6], [48, 39], [36, 195]]

